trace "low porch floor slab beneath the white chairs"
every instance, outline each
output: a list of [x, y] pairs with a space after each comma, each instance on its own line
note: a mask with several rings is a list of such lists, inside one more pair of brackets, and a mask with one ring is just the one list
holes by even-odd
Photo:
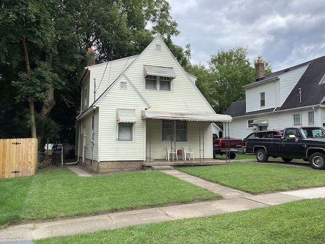
[[151, 166], [195, 166], [195, 165], [224, 165], [231, 164], [232, 162], [228, 160], [220, 160], [220, 159], [190, 159], [190, 160], [166, 160], [166, 159], [155, 159], [147, 160], [147, 162], [142, 162], [142, 166], [151, 167]]

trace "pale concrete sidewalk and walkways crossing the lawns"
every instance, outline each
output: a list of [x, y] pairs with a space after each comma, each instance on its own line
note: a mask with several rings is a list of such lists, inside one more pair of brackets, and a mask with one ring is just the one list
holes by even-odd
[[[82, 166], [69, 166], [69, 168], [80, 176], [91, 176], [90, 173], [83, 170]], [[19, 236], [28, 239], [40, 239], [50, 236], [73, 235], [82, 232], [115, 229], [129, 225], [218, 215], [226, 212], [277, 205], [295, 200], [325, 198], [325, 187], [250, 195], [182, 173], [178, 170], [165, 170], [162, 172], [220, 194], [224, 200], [202, 201], [175, 206], [114, 212], [112, 214], [85, 218], [75, 217], [71, 220], [49, 221], [45, 223], [38, 223], [36, 221], [35, 223], [9, 226], [8, 228], [0, 229], [0, 236]]]

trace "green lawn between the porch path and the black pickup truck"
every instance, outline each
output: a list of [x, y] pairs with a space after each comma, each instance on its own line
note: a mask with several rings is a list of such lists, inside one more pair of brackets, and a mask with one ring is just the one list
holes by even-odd
[[180, 171], [250, 193], [325, 186], [325, 171], [268, 163], [179, 167]]

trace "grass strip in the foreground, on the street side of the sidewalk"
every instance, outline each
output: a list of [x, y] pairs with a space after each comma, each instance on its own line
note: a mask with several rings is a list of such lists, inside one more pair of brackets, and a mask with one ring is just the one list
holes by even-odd
[[323, 243], [325, 199], [289, 202], [211, 217], [34, 240], [66, 243]]

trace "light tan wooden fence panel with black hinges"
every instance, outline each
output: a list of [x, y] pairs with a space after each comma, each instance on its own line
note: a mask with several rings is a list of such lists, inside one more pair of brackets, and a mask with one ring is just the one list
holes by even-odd
[[0, 178], [34, 175], [37, 138], [0, 139]]

